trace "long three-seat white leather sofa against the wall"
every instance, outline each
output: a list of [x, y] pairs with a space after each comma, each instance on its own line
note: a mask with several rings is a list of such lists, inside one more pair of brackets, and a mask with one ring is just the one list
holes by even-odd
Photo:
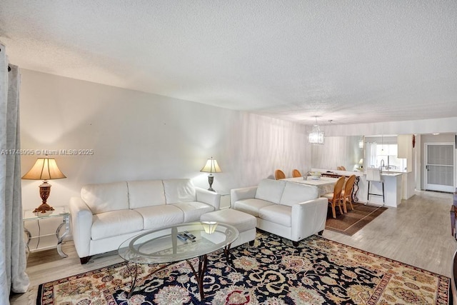
[[86, 264], [142, 231], [199, 221], [202, 214], [219, 210], [220, 201], [220, 194], [190, 179], [89, 184], [70, 199], [74, 246]]

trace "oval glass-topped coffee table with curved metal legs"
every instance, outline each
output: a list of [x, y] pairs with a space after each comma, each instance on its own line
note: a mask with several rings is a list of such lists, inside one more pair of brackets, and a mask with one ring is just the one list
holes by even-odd
[[[186, 260], [194, 273], [201, 300], [204, 299], [203, 279], [208, 264], [207, 254], [224, 249], [227, 262], [231, 262], [230, 246], [238, 238], [238, 230], [229, 224], [215, 221], [191, 222], [176, 224], [165, 228], [147, 231], [124, 241], [119, 246], [119, 256], [127, 264], [165, 264], [154, 270], [143, 281], [157, 271], [166, 268], [176, 261]], [[189, 259], [199, 258], [196, 270]], [[168, 264], [166, 264], [168, 263]], [[129, 269], [131, 270], [131, 269]], [[136, 287], [137, 269], [132, 275], [129, 298]]]

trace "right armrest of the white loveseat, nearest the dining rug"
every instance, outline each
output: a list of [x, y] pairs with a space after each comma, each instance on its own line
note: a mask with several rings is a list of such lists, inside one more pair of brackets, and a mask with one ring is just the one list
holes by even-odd
[[299, 241], [326, 228], [328, 199], [317, 198], [293, 204], [291, 239]]

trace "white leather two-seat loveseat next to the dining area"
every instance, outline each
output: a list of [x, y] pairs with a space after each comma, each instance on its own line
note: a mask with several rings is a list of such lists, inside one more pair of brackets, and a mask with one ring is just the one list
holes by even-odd
[[322, 234], [328, 200], [316, 186], [263, 179], [258, 186], [231, 190], [231, 208], [256, 216], [257, 228], [293, 241]]

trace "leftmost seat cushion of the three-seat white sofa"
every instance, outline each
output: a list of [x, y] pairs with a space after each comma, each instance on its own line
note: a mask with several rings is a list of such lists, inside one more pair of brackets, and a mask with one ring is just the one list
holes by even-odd
[[142, 229], [143, 217], [136, 211], [109, 211], [92, 216], [91, 239], [106, 239]]

